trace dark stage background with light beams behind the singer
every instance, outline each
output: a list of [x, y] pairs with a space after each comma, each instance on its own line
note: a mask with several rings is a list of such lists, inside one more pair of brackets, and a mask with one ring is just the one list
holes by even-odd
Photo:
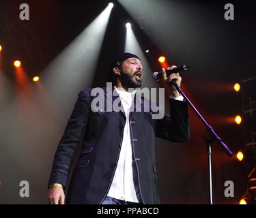
[[[19, 18], [21, 3], [29, 5], [29, 20]], [[125, 48], [126, 22], [152, 70], [144, 72], [143, 87], [158, 87], [151, 76], [160, 71], [160, 55], [169, 65], [191, 65], [181, 73], [182, 89], [234, 153], [228, 157], [218, 144], [212, 146], [213, 202], [238, 204], [246, 191], [246, 170], [236, 159], [244, 147], [244, 130], [231, 120], [242, 112], [242, 95], [233, 91], [233, 84], [255, 76], [253, 4], [113, 1], [106, 31], [98, 33], [101, 41], [98, 35], [83, 35], [108, 3], [1, 1], [0, 204], [48, 203], [51, 164], [77, 95], [106, 85], [110, 61]], [[233, 3], [234, 20], [224, 18], [226, 3]], [[91, 28], [100, 31], [100, 24]], [[75, 47], [72, 42], [79, 35], [81, 44]], [[20, 74], [12, 65], [16, 59], [22, 63]], [[40, 81], [33, 82], [33, 76], [40, 76]], [[192, 110], [190, 121], [188, 142], [156, 139], [162, 204], [208, 204], [208, 159], [202, 138], [207, 132]], [[29, 182], [29, 197], [20, 197], [20, 181]], [[233, 181], [234, 197], [225, 197], [225, 181]]]

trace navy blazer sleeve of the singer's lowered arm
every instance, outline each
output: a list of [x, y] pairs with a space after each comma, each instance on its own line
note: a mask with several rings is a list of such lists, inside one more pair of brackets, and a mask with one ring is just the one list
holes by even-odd
[[66, 187], [68, 175], [85, 134], [90, 106], [89, 93], [86, 90], [81, 91], [57, 146], [48, 187], [53, 183], [60, 183], [64, 188]]

